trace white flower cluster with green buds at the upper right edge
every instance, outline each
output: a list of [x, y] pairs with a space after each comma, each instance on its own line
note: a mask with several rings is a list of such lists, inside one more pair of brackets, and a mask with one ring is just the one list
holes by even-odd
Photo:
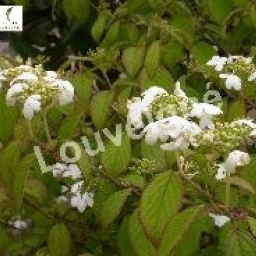
[[[228, 90], [241, 90], [242, 83], [256, 81], [256, 68], [252, 58], [244, 56], [212, 56], [206, 65], [214, 67], [219, 72], [219, 77], [225, 80]], [[245, 77], [244, 77], [245, 76]]]

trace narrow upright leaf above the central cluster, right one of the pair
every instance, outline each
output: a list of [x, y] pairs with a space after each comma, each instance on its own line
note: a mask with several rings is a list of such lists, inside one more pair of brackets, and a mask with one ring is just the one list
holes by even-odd
[[147, 70], [148, 77], [152, 78], [154, 77], [154, 74], [156, 74], [160, 57], [161, 47], [159, 41], [155, 41], [150, 45], [145, 58], [145, 68]]

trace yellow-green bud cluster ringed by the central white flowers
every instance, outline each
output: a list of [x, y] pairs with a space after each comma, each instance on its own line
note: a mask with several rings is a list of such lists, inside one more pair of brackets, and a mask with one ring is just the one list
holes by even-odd
[[169, 116], [188, 116], [189, 112], [192, 110], [191, 102], [184, 98], [176, 95], [159, 95], [150, 105], [150, 113], [154, 117], [166, 118]]

